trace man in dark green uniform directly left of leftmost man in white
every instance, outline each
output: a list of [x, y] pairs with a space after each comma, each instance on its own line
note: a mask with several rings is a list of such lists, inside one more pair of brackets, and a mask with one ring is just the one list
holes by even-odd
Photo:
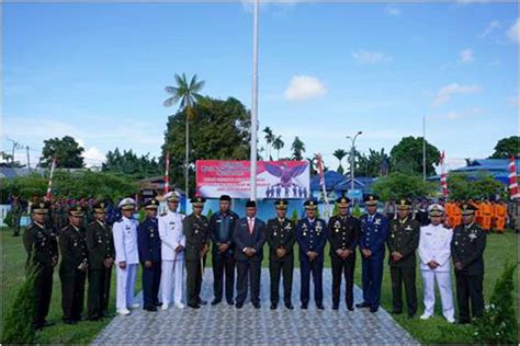
[[88, 319], [95, 321], [109, 315], [110, 281], [115, 251], [112, 228], [106, 223], [106, 205], [97, 203], [93, 207], [94, 221], [87, 227], [87, 250], [89, 252]]

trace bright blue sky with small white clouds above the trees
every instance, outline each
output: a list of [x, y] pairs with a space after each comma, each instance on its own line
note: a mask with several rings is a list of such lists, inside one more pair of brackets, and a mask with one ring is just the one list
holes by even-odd
[[[34, 148], [70, 135], [100, 164], [115, 147], [160, 154], [163, 88], [251, 101], [252, 11], [237, 3], [4, 3], [3, 125]], [[269, 3], [260, 13], [259, 119], [337, 166], [336, 149], [387, 151], [404, 136], [449, 163], [518, 134], [516, 3]], [[260, 146], [264, 146], [263, 135]], [[274, 155], [275, 157], [275, 155]], [[16, 158], [26, 160], [24, 151]]]

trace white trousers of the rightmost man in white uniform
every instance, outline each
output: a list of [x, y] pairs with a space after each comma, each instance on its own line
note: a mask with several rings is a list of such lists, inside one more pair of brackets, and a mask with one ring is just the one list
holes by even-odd
[[436, 279], [441, 293], [442, 314], [449, 321], [453, 321], [455, 310], [453, 308], [453, 290], [451, 288], [450, 272], [421, 270], [425, 286], [425, 314], [433, 315], [436, 305]]

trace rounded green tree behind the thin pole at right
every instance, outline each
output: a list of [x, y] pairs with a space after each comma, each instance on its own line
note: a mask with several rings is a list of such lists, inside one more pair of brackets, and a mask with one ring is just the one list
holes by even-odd
[[[426, 174], [436, 173], [434, 164], [439, 162], [440, 152], [426, 141]], [[405, 137], [391, 150], [393, 171], [408, 174], [422, 174], [422, 137]]]

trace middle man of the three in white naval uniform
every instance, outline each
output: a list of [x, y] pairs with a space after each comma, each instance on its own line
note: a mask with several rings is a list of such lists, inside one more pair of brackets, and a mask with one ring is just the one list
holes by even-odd
[[161, 310], [168, 310], [173, 289], [173, 303], [177, 308], [183, 309], [182, 286], [184, 277], [184, 247], [185, 237], [182, 231], [184, 215], [177, 212], [180, 196], [176, 192], [165, 195], [168, 210], [159, 216], [159, 238], [161, 240]]

